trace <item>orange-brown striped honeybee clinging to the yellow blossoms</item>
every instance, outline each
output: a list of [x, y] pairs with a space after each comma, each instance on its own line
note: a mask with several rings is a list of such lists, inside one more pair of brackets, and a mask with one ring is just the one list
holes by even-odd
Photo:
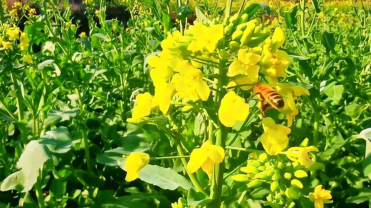
[[[262, 115], [265, 116], [265, 111], [269, 108], [283, 108], [285, 102], [281, 95], [277, 93], [270, 85], [264, 83], [257, 83], [253, 87], [253, 91], [259, 99], [259, 107], [261, 108]], [[265, 101], [267, 102], [266, 104]]]

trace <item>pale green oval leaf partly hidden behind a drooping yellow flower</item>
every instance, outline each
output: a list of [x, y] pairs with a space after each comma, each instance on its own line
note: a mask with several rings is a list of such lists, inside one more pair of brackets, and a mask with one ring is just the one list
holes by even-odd
[[[121, 158], [117, 164], [124, 170], [126, 158]], [[171, 168], [157, 165], [146, 165], [139, 170], [139, 179], [149, 184], [157, 185], [162, 189], [175, 190], [182, 187], [185, 190], [192, 188], [191, 183]]]

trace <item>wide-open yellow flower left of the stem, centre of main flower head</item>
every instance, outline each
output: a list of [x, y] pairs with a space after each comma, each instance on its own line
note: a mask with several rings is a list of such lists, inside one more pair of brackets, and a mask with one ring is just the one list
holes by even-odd
[[202, 71], [194, 68], [192, 64], [183, 62], [179, 65], [180, 73], [174, 74], [171, 83], [184, 102], [196, 101], [199, 98], [206, 101], [210, 95], [209, 85], [203, 80]]

